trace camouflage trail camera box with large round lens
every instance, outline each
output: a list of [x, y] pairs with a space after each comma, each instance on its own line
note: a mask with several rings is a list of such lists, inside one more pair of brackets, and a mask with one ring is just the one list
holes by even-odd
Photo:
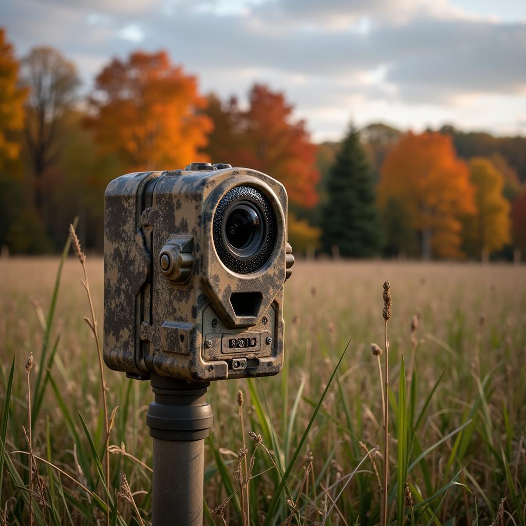
[[275, 375], [287, 194], [230, 165], [123, 175], [105, 195], [104, 360], [131, 378]]

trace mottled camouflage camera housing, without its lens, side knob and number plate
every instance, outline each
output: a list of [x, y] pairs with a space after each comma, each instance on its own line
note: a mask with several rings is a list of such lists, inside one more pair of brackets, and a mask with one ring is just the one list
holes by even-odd
[[[252, 274], [229, 270], [214, 247], [215, 209], [236, 186], [251, 186], [265, 194], [277, 221], [274, 252]], [[105, 203], [104, 359], [108, 367], [191, 381], [279, 372], [284, 350], [283, 284], [291, 260], [287, 194], [278, 181], [246, 168], [128, 174], [108, 185]], [[160, 252], [174, 236], [193, 238], [193, 264], [183, 285], [166, 279], [159, 266]], [[232, 292], [257, 291], [262, 299], [256, 315], [236, 316], [230, 304]], [[268, 331], [271, 342], [259, 351], [207, 352], [208, 334], [214, 335], [215, 348], [222, 335]], [[247, 368], [232, 369], [232, 356], [246, 357]]]

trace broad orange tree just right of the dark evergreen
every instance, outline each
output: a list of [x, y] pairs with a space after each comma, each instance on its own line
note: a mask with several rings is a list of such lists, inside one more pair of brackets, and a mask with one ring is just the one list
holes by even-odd
[[408, 133], [392, 148], [381, 170], [380, 206], [396, 203], [419, 234], [424, 259], [460, 257], [460, 218], [476, 211], [469, 170], [451, 137]]

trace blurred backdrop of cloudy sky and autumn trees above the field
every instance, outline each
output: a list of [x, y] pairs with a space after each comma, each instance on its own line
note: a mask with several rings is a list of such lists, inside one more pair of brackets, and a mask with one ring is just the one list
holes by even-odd
[[256, 168], [299, 256], [526, 253], [526, 4], [0, 6], [0, 246], [50, 254], [129, 171]]

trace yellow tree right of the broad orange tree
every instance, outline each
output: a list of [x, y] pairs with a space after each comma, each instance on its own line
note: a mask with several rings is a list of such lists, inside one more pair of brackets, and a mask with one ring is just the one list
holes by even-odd
[[511, 241], [510, 204], [504, 178], [489, 159], [474, 157], [469, 168], [477, 211], [464, 219], [463, 237], [468, 253], [484, 259]]

